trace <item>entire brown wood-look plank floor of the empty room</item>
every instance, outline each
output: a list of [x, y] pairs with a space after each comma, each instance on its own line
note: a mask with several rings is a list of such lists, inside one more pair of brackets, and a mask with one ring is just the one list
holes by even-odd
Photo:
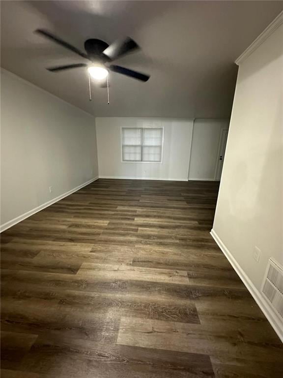
[[98, 180], [2, 233], [1, 378], [282, 378], [218, 184]]

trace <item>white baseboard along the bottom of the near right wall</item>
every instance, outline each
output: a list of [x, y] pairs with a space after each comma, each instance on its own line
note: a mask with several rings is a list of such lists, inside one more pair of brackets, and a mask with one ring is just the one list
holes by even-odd
[[247, 287], [249, 292], [251, 293], [252, 297], [255, 299], [255, 302], [259, 306], [260, 310], [263, 312], [263, 314], [266, 316], [267, 320], [277, 333], [278, 337], [283, 343], [283, 328], [282, 328], [282, 321], [279, 318], [279, 316], [273, 311], [272, 307], [269, 305], [268, 301], [264, 298], [264, 296], [260, 293], [260, 291], [255, 287], [255, 285], [252, 283], [252, 281], [249, 279], [249, 277], [246, 275], [244, 270], [241, 268], [239, 263], [236, 261], [236, 259], [233, 257], [231, 252], [226, 248], [225, 244], [222, 242], [220, 237], [217, 235], [217, 233], [212, 229], [210, 231], [210, 235], [215, 240], [218, 247], [221, 249], [221, 251], [225, 254], [226, 258], [236, 271], [237, 275], [242, 280], [243, 284]]

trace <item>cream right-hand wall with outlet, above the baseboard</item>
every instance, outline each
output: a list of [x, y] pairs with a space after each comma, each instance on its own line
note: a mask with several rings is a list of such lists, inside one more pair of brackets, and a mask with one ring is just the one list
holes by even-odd
[[283, 265], [282, 36], [283, 25], [240, 63], [213, 224], [259, 297], [268, 258]]

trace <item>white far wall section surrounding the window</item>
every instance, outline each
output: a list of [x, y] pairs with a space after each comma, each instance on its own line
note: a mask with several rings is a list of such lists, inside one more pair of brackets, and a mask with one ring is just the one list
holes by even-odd
[[[121, 127], [164, 126], [163, 163], [121, 161]], [[193, 120], [96, 118], [100, 177], [187, 180]]]

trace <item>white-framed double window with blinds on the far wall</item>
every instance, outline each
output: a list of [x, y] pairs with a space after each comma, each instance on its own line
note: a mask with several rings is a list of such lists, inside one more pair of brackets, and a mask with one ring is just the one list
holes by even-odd
[[122, 161], [162, 161], [163, 127], [122, 127]]

